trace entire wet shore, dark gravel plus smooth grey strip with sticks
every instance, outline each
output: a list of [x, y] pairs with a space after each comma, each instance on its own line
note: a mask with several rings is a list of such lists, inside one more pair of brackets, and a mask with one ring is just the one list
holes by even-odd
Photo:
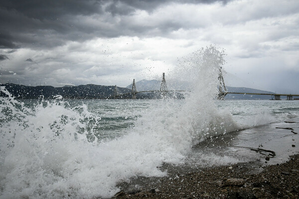
[[184, 165], [162, 165], [166, 177], [122, 183], [114, 198], [299, 198], [297, 132], [299, 118], [211, 138], [194, 146]]

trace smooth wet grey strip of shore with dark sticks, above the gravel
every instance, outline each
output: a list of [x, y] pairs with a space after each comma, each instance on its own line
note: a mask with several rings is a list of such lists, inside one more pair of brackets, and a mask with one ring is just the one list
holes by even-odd
[[[299, 153], [299, 148], [295, 147], [297, 133], [299, 118], [246, 128], [197, 144], [190, 159], [199, 160], [199, 164], [206, 161], [206, 166], [250, 161], [278, 164]], [[209, 158], [201, 161], [199, 154]]]

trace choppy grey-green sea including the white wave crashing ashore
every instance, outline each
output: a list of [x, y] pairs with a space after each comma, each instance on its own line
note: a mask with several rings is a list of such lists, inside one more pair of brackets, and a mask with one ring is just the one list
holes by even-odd
[[299, 117], [299, 100], [215, 100], [221, 59], [203, 51], [184, 60], [195, 84], [183, 100], [18, 100], [1, 87], [0, 199], [106, 199], [121, 183], [167, 176], [165, 164], [244, 162], [209, 146]]

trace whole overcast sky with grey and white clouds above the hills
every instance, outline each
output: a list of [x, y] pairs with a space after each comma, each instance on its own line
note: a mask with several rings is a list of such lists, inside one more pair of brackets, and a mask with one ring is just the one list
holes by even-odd
[[299, 0], [1, 0], [0, 83], [161, 79], [201, 47], [228, 86], [299, 94]]

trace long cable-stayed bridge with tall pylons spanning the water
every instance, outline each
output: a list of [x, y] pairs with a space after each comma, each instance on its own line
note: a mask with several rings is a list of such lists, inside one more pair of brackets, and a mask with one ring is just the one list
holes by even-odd
[[[136, 94], [138, 93], [159, 93], [162, 97], [165, 97], [169, 93], [176, 93], [176, 92], [189, 92], [189, 91], [182, 91], [182, 90], [167, 90], [166, 80], [165, 80], [165, 73], [163, 73], [162, 82], [160, 86], [160, 90], [152, 90], [152, 91], [137, 91], [135, 79], [133, 80], [132, 90], [130, 93], [125, 94], [118, 94], [117, 86], [114, 89], [114, 95], [109, 99], [136, 99]], [[287, 96], [287, 100], [293, 100], [293, 97], [299, 97], [299, 95], [294, 94], [275, 94], [275, 93], [245, 93], [245, 92], [228, 92], [222, 75], [222, 68], [219, 69], [219, 76], [218, 76], [218, 95], [216, 96], [217, 100], [224, 100], [224, 97], [227, 94], [240, 94], [240, 95], [262, 95], [262, 96], [271, 96], [272, 100], [281, 100], [281, 96]]]

